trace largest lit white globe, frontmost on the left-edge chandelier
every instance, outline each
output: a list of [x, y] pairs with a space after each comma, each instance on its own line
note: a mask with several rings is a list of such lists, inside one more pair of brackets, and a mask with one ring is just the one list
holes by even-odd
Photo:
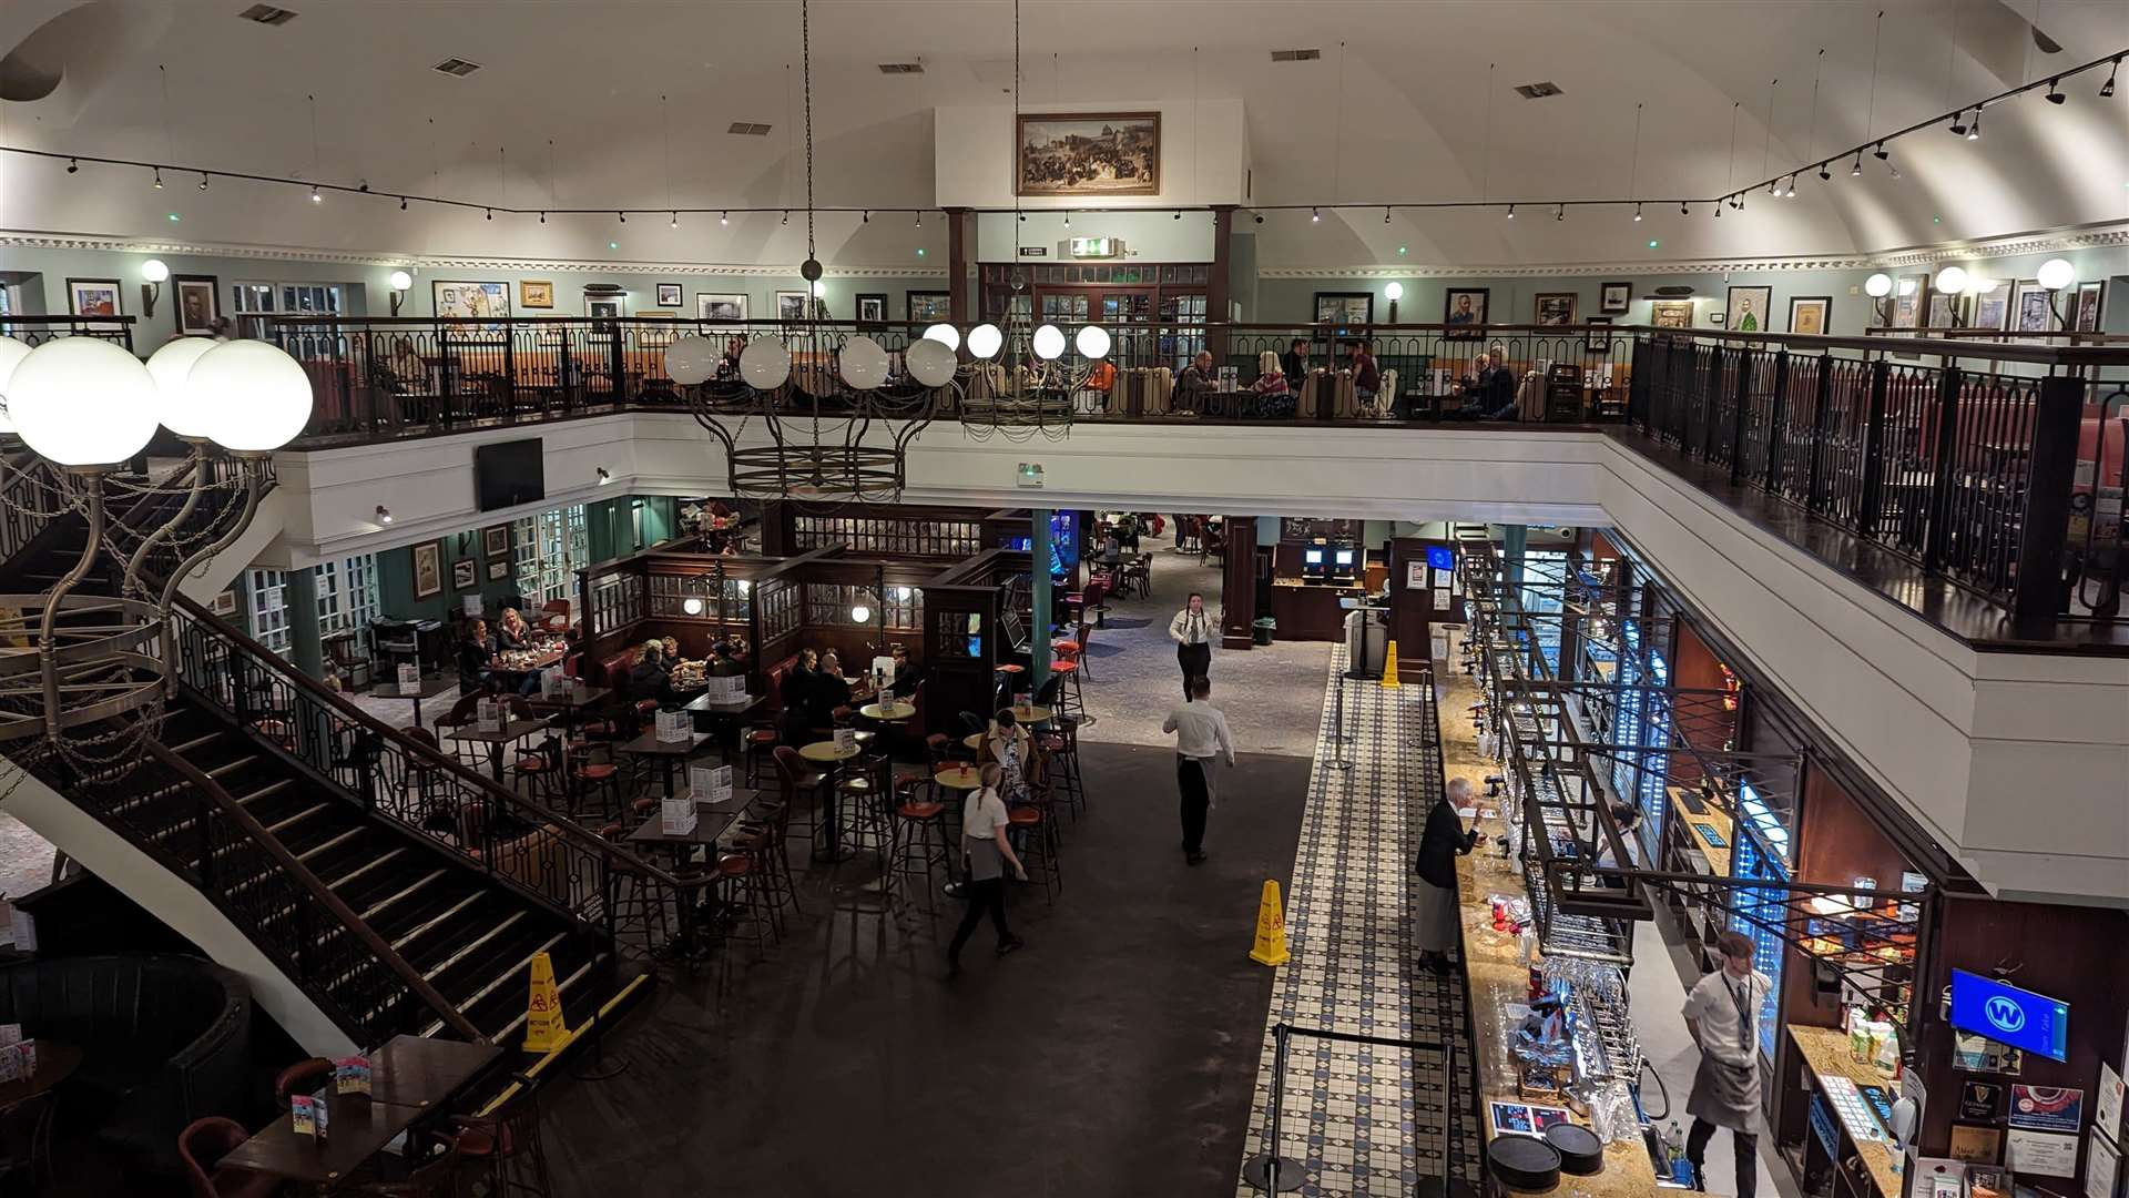
[[15, 435], [62, 467], [117, 465], [155, 435], [155, 379], [102, 337], [53, 337], [15, 367]]

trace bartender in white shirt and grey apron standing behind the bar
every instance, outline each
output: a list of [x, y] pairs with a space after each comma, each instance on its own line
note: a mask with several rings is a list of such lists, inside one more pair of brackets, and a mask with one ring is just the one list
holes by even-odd
[[1759, 1013], [1773, 983], [1752, 968], [1752, 942], [1742, 932], [1716, 938], [1722, 968], [1707, 974], [1686, 993], [1686, 1032], [1701, 1047], [1701, 1068], [1693, 1074], [1693, 1132], [1686, 1136], [1686, 1160], [1693, 1179], [1705, 1189], [1707, 1140], [1716, 1128], [1729, 1128], [1737, 1147], [1737, 1198], [1752, 1198], [1759, 1185], [1759, 1136], [1752, 1115], [1759, 1111]]

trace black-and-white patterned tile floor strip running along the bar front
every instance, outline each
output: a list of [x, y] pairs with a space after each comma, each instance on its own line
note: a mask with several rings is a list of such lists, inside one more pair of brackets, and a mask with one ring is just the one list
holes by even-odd
[[[1346, 648], [1331, 652], [1316, 765], [1286, 893], [1290, 961], [1271, 987], [1243, 1155], [1265, 1151], [1271, 1121], [1271, 1025], [1322, 1027], [1454, 1045], [1456, 1177], [1480, 1181], [1471, 1115], [1465, 981], [1437, 978], [1412, 946], [1412, 859], [1441, 789], [1433, 695], [1420, 678], [1384, 689], [1348, 682]], [[1333, 742], [1346, 689], [1343, 744]], [[1350, 761], [1350, 770], [1337, 763]], [[1441, 1177], [1448, 1074], [1441, 1053], [1292, 1036], [1280, 1153], [1301, 1162], [1303, 1194], [1412, 1194]], [[1237, 1198], [1260, 1194], [1248, 1181]]]

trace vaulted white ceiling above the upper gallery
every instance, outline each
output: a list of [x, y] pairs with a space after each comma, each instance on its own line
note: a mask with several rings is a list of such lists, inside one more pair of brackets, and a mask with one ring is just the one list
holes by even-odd
[[[0, 102], [0, 141], [507, 207], [805, 203], [796, 0], [281, 0], [298, 15], [277, 28], [238, 19], [247, 2], [6, 0], [0, 53], [15, 53], [0, 92], [57, 85]], [[1397, 211], [1388, 224], [1380, 209], [1320, 224], [1271, 213], [1256, 226], [1265, 269], [1833, 256], [2129, 217], [2129, 85], [2101, 100], [2103, 75], [2065, 85], [2061, 107], [2033, 94], [1991, 109], [1978, 143], [1942, 128], [1901, 139], [1897, 181], [1865, 156], [1861, 179], [1844, 162], [1827, 183], [1805, 175], [1797, 198], [1763, 190], [1720, 220], [1705, 205], [1680, 215], [1676, 203], [1650, 203], [1641, 224], [1614, 209], [1565, 222], [1539, 211], [1563, 198], [1722, 194], [2129, 49], [2123, 0], [1882, 9], [1880, 26], [1880, 6], [1861, 0], [1030, 2], [1022, 104], [1239, 98], [1265, 205], [1531, 205], [1514, 224], [1501, 209]], [[815, 0], [811, 26], [815, 200], [935, 203], [930, 109], [1011, 102], [1013, 6]], [[1269, 60], [1299, 47], [1322, 58]], [[481, 70], [432, 70], [445, 58]], [[884, 75], [884, 62], [924, 72]], [[1535, 81], [1563, 94], [1514, 92]], [[773, 128], [732, 136], [732, 122]], [[805, 256], [801, 217], [541, 226], [424, 205], [400, 213], [390, 198], [311, 205], [238, 181], [166, 183], [153, 192], [138, 171], [66, 175], [0, 156], [0, 228], [466, 258]], [[918, 245], [943, 245], [939, 222], [822, 217], [830, 262], [913, 264]]]

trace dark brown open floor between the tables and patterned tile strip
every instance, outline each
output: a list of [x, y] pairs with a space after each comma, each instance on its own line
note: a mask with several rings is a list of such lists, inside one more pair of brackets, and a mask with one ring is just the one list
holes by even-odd
[[1292, 870], [1309, 759], [1224, 772], [1192, 870], [1175, 757], [1082, 752], [1064, 891], [1011, 895], [1026, 951], [992, 957], [986, 925], [950, 983], [958, 904], [830, 912], [815, 878], [764, 961], [703, 966], [617, 1025], [628, 1072], [547, 1087], [558, 1192], [1231, 1196], [1271, 993], [1256, 897]]

